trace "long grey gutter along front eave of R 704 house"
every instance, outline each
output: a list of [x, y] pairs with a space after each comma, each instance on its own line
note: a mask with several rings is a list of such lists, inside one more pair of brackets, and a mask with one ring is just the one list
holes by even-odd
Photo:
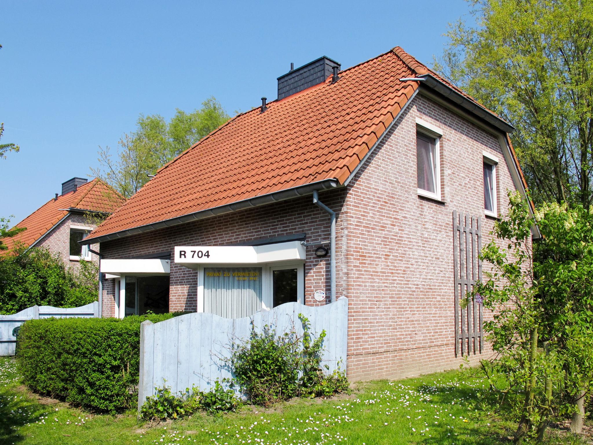
[[314, 192], [314, 190], [331, 190], [337, 189], [338, 187], [340, 187], [340, 183], [337, 179], [324, 179], [321, 181], [304, 184], [302, 186], [279, 190], [278, 192], [266, 193], [266, 195], [254, 196], [253, 198], [244, 199], [243, 201], [232, 202], [231, 204], [225, 204], [218, 207], [193, 212], [187, 215], [181, 215], [180, 217], [171, 218], [169, 220], [152, 222], [151, 224], [132, 227], [106, 235], [85, 238], [82, 241], [78, 241], [78, 243], [83, 245], [103, 243], [104, 241], [116, 240], [127, 236], [158, 230], [160, 228], [185, 224], [186, 222], [203, 220], [216, 215], [222, 215], [225, 213], [231, 213], [252, 207], [259, 207], [261, 205], [271, 204], [272, 202], [286, 201], [286, 199], [310, 195]]

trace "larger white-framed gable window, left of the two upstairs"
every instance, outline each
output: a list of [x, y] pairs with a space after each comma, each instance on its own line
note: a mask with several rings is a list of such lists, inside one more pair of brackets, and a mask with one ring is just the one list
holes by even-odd
[[417, 192], [438, 201], [441, 201], [441, 136], [441, 129], [416, 119]]

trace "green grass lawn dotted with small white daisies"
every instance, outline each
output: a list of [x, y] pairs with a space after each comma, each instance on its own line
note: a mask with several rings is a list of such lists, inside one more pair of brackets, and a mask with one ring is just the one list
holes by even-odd
[[[458, 375], [378, 380], [329, 400], [245, 406], [221, 417], [199, 414], [149, 427], [135, 412], [91, 415], [32, 395], [18, 383], [14, 359], [0, 357], [0, 444], [508, 444], [512, 424], [471, 408], [482, 382], [460, 382]], [[547, 443], [585, 442], [551, 431]]]

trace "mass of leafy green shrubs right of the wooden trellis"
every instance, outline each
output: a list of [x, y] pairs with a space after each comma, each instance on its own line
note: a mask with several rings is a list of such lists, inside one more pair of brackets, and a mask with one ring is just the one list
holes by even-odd
[[493, 311], [484, 330], [498, 357], [482, 365], [519, 421], [515, 441], [540, 441], [552, 412], [572, 412], [579, 424], [591, 390], [593, 214], [580, 204], [539, 206], [542, 238], [532, 256], [533, 218], [518, 193], [509, 198], [508, 215], [495, 224], [498, 240], [481, 255], [492, 268], [484, 267], [486, 279], [468, 300], [479, 298]]

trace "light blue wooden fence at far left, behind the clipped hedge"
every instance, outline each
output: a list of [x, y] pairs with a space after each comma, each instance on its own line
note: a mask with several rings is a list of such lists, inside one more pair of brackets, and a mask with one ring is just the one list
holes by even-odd
[[40, 318], [98, 317], [99, 303], [80, 307], [32, 306], [12, 315], [0, 315], [0, 355], [14, 355], [18, 328], [27, 320]]

